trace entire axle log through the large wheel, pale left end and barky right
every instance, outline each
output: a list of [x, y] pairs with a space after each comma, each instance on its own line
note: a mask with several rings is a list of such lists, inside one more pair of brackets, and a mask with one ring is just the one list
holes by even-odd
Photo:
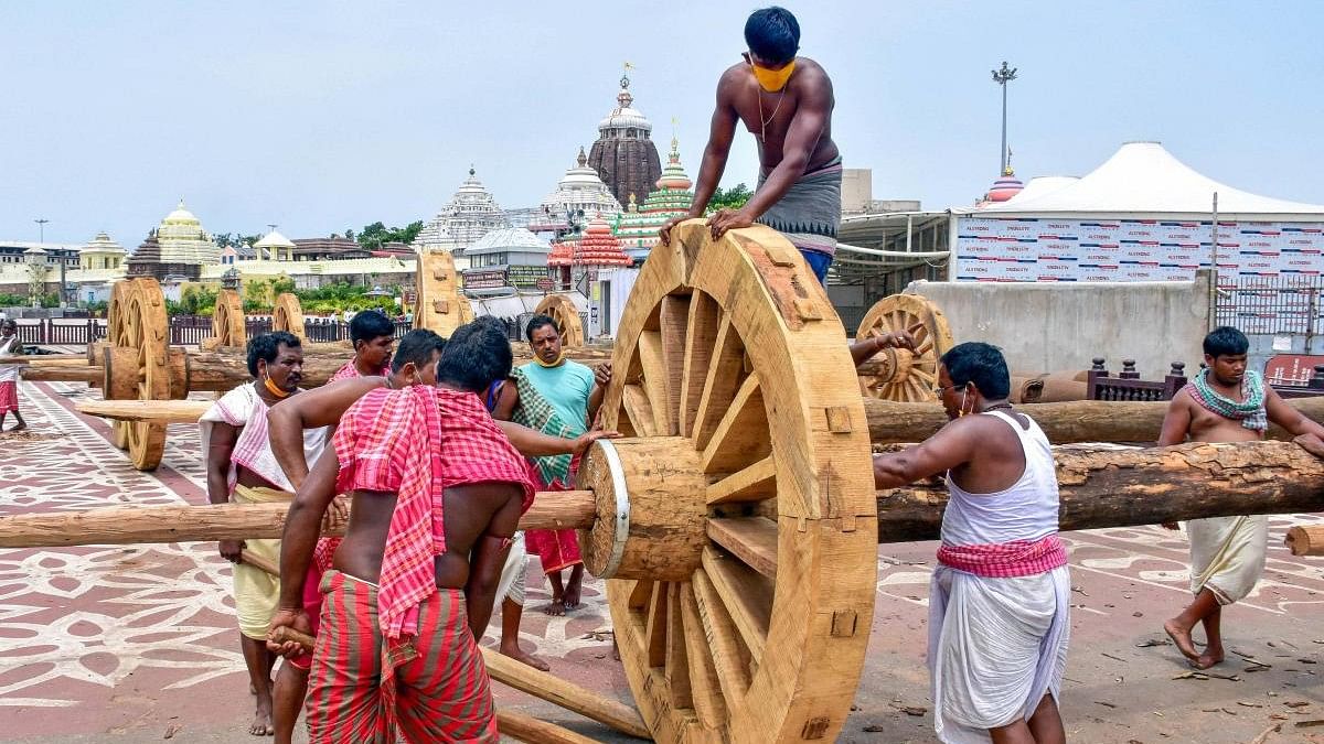
[[[1058, 447], [1063, 531], [1324, 511], [1324, 462], [1291, 442]], [[522, 530], [594, 527], [593, 491], [540, 492]], [[941, 485], [878, 492], [878, 541], [937, 537]], [[106, 507], [0, 516], [0, 548], [279, 537], [287, 504]], [[1320, 540], [1324, 543], [1324, 540]]]

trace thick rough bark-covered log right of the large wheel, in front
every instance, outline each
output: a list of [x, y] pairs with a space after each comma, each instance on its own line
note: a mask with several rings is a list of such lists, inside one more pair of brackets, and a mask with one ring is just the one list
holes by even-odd
[[[1324, 511], [1324, 462], [1291, 442], [1054, 447], [1053, 454], [1063, 532]], [[947, 488], [937, 483], [879, 491], [878, 541], [936, 539], [945, 506]]]

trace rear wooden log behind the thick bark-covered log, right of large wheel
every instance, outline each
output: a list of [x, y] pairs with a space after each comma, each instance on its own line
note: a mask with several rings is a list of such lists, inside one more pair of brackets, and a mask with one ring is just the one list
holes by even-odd
[[[1288, 405], [1315, 421], [1324, 421], [1324, 396], [1292, 398]], [[1168, 404], [1121, 401], [1043, 402], [1025, 409], [1055, 445], [1072, 442], [1155, 442]], [[875, 445], [922, 442], [947, 424], [943, 408], [931, 402], [890, 402], [865, 398], [869, 438]], [[1268, 438], [1290, 440], [1278, 426]]]

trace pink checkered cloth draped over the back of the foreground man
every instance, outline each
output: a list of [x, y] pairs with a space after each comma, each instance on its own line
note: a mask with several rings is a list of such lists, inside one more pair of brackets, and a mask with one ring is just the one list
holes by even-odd
[[524, 458], [474, 393], [414, 385], [380, 388], [340, 418], [336, 490], [396, 492], [381, 560], [377, 617], [388, 639], [418, 633], [418, 605], [437, 590], [433, 556], [446, 552], [442, 491], [502, 482], [534, 485]]

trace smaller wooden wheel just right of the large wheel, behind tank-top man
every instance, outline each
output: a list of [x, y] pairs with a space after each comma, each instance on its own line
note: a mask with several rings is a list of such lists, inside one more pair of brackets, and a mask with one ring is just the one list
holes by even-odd
[[861, 375], [861, 389], [866, 396], [898, 402], [937, 400], [937, 361], [955, 346], [947, 316], [928, 298], [914, 294], [894, 294], [874, 303], [859, 322], [857, 340], [910, 331], [915, 336], [915, 351], [884, 348], [874, 356], [871, 375]]

